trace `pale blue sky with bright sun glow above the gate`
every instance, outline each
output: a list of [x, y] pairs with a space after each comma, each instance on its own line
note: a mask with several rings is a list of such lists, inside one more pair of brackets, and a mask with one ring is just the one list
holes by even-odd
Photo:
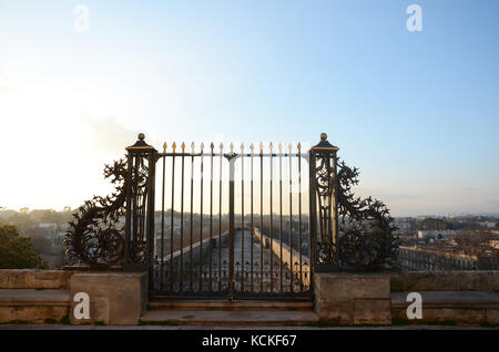
[[[411, 3], [422, 32], [406, 29]], [[0, 0], [0, 147], [17, 170], [0, 206], [105, 193], [102, 163], [138, 131], [156, 147], [326, 132], [358, 194], [395, 215], [499, 211], [498, 42], [496, 0]]]

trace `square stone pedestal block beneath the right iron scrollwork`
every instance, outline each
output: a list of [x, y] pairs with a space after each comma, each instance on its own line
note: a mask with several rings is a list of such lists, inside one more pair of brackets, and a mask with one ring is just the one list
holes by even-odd
[[334, 324], [391, 324], [390, 277], [316, 273], [315, 311]]

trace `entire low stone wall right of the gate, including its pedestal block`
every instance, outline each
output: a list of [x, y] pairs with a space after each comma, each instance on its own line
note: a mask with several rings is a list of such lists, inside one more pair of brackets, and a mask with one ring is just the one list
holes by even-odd
[[[319, 272], [314, 284], [325, 323], [499, 325], [499, 271]], [[422, 298], [422, 319], [408, 318], [410, 292]]]

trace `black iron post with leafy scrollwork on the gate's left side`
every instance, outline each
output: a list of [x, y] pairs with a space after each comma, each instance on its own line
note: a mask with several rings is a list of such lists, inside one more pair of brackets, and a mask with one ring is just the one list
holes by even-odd
[[[106, 197], [94, 196], [73, 214], [74, 220], [69, 222], [63, 241], [67, 265], [108, 268], [123, 266], [125, 259], [129, 263], [145, 262], [146, 184], [150, 176], [145, 159], [146, 153], [130, 153], [128, 159], [105, 165], [104, 178], [111, 179], [114, 191]], [[123, 221], [128, 199], [132, 210], [129, 239], [126, 221]]]

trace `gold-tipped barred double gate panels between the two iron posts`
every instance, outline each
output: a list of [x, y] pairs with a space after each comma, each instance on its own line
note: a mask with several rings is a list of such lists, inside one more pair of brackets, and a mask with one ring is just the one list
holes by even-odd
[[161, 169], [161, 211], [151, 244], [153, 296], [309, 296], [307, 186], [301, 176], [307, 155], [299, 144], [295, 151], [281, 144], [268, 148], [241, 145], [235, 153], [231, 144], [224, 153], [222, 144], [212, 143], [151, 151], [151, 163]]

